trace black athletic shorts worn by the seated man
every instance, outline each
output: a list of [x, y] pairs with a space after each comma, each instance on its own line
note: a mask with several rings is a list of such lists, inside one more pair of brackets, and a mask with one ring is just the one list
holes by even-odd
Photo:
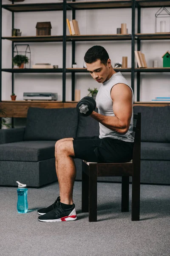
[[75, 137], [73, 140], [75, 158], [96, 163], [125, 163], [132, 160], [132, 142], [94, 137]]

